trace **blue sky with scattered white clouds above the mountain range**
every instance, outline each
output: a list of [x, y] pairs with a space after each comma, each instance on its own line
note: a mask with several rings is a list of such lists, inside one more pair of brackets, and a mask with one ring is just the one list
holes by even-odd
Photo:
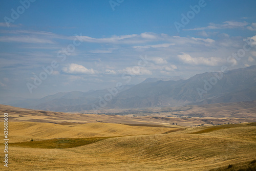
[[0, 0], [0, 99], [256, 65], [255, 9], [254, 0]]

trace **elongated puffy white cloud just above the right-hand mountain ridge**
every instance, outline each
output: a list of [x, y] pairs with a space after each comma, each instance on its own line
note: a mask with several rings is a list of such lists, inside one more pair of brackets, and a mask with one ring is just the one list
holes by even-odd
[[190, 65], [218, 66], [219, 63], [222, 62], [222, 59], [218, 57], [191, 57], [189, 54], [186, 53], [182, 53], [182, 55], [178, 55], [178, 57], [184, 63], [188, 63]]

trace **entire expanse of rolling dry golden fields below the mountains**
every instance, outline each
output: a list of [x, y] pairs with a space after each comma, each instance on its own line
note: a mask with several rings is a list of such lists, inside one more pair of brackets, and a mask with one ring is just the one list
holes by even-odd
[[[256, 159], [255, 114], [133, 117], [7, 105], [0, 105], [0, 112], [8, 112], [9, 121], [8, 168], [3, 159], [0, 170], [232, 170], [253, 167]], [[3, 117], [0, 121], [4, 132]], [[4, 156], [3, 143], [0, 148]]]

